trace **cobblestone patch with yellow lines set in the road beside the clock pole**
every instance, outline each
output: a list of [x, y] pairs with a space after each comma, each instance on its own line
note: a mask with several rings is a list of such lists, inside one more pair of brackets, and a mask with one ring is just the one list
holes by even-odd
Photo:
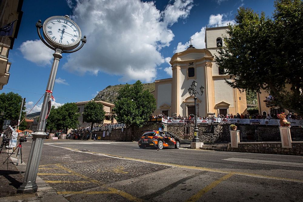
[[87, 190], [166, 168], [168, 166], [136, 161], [130, 163], [128, 160], [57, 147], [52, 155], [41, 158], [38, 176], [58, 192], [64, 193]]

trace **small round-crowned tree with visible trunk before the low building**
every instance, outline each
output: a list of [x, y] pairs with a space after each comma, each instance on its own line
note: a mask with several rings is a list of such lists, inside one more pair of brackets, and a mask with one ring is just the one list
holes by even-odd
[[[84, 106], [82, 116], [85, 122], [92, 123], [91, 128], [93, 128], [94, 123], [101, 123], [105, 118], [103, 104], [100, 102], [89, 101]], [[89, 138], [92, 138], [92, 133], [89, 136]]]

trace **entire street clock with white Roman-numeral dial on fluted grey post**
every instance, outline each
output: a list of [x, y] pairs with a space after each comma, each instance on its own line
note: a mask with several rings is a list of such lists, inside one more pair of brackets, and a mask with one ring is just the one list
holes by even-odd
[[[40, 33], [40, 29], [42, 27], [43, 35], [46, 41], [42, 38]], [[62, 58], [62, 53], [73, 53], [75, 51], [78, 51], [86, 43], [86, 36], [81, 38], [82, 35], [80, 28], [74, 21], [69, 18], [68, 15], [50, 17], [45, 20], [43, 26], [41, 24], [41, 20], [39, 20], [36, 23], [36, 28], [41, 41], [48, 48], [54, 50], [55, 53], [53, 54], [54, 61], [48, 78], [42, 109], [40, 112], [38, 131], [33, 134], [32, 147], [26, 165], [23, 184], [17, 190], [17, 193], [21, 194], [34, 193], [37, 192], [38, 189], [36, 178], [38, 174], [38, 166], [42, 153], [43, 142], [44, 138], [46, 137], [46, 133], [44, 132], [45, 125], [48, 114], [51, 110], [52, 91], [55, 84], [59, 61]], [[51, 30], [49, 31], [48, 29]], [[73, 35], [70, 33], [73, 33]], [[50, 35], [55, 36], [52, 37]], [[82, 44], [79, 46], [80, 41], [82, 41]]]

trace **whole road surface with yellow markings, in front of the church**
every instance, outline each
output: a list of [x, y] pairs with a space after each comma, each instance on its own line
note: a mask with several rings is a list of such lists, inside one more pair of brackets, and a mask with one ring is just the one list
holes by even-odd
[[[22, 144], [25, 163], [30, 144]], [[38, 177], [71, 202], [284, 202], [303, 201], [302, 167], [300, 156], [45, 140]]]

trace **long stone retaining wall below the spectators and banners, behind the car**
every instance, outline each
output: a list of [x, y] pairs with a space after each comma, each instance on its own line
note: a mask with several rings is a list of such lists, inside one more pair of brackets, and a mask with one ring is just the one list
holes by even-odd
[[[97, 134], [100, 136], [102, 140], [113, 140], [113, 141], [137, 141], [141, 135], [142, 130], [158, 130], [161, 127], [161, 123], [149, 123], [143, 127], [135, 127], [134, 128], [134, 137], [132, 137], [132, 128], [124, 128], [123, 132], [121, 128], [112, 129], [109, 136], [107, 136], [107, 131], [105, 137], [103, 137], [103, 131], [93, 131], [93, 135]], [[245, 137], [246, 134], [252, 133], [255, 134], [255, 130], [258, 134], [260, 134], [260, 138], [262, 134], [276, 134], [277, 137], [280, 138], [280, 132], [278, 127], [276, 126], [266, 126], [266, 125], [244, 125], [244, 124], [236, 124], [238, 126], [238, 130], [242, 137]], [[194, 138], [194, 125], [183, 125], [183, 124], [168, 124], [165, 125], [164, 130], [169, 131], [173, 134], [176, 134], [180, 139], [184, 140], [192, 140]], [[199, 139], [201, 142], [205, 143], [213, 143], [213, 142], [230, 142], [230, 134], [229, 134], [229, 124], [205, 124], [198, 125], [199, 128]], [[187, 131], [186, 131], [187, 130]], [[294, 131], [295, 130], [295, 131]], [[291, 134], [295, 133], [298, 137], [303, 133], [303, 128], [291, 128]], [[301, 136], [302, 137], [302, 136]], [[254, 141], [254, 140], [251, 140]], [[275, 140], [279, 141], [279, 140]], [[294, 141], [294, 139], [293, 139]]]

